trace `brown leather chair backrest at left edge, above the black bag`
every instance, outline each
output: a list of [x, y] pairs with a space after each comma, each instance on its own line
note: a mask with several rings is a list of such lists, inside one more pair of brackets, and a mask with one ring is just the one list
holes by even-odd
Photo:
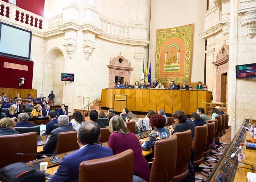
[[36, 159], [36, 155], [16, 155], [17, 153], [36, 154], [36, 132], [0, 136], [0, 168], [14, 162], [29, 162]]

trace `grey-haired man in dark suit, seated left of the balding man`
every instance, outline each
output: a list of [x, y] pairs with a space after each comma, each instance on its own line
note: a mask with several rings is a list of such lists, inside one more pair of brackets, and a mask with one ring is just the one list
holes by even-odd
[[45, 145], [43, 145], [43, 151], [45, 154], [56, 154], [58, 144], [58, 134], [65, 131], [76, 131], [72, 126], [69, 126], [69, 117], [62, 115], [58, 117], [59, 127], [51, 131], [51, 136]]

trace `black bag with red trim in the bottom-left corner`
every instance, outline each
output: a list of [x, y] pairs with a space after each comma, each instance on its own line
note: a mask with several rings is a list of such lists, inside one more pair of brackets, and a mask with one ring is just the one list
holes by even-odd
[[0, 169], [2, 182], [45, 182], [45, 174], [24, 162], [16, 162]]

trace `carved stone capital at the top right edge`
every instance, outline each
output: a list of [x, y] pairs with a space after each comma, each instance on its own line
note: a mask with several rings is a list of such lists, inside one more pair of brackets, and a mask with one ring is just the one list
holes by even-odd
[[241, 26], [245, 28], [246, 35], [253, 38], [256, 34], [256, 10], [240, 13]]

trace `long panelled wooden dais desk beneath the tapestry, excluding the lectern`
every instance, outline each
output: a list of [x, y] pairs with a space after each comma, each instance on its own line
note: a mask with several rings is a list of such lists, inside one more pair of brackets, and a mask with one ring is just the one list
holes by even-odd
[[[142, 112], [163, 109], [165, 113], [182, 110], [191, 114], [202, 107], [202, 100], [211, 102], [211, 92], [205, 90], [102, 89], [101, 107], [114, 108], [114, 95], [127, 95], [127, 108]], [[203, 107], [207, 111], [206, 104]]]

